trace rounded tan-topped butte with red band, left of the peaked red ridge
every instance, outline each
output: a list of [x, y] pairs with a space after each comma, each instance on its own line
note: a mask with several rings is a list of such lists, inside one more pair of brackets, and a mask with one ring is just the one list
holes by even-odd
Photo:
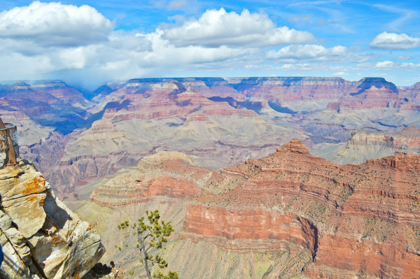
[[[204, 192], [197, 180], [214, 172], [192, 166], [193, 159], [179, 152], [159, 152], [142, 159], [137, 169], [124, 172], [96, 189], [90, 200], [100, 206], [120, 207], [144, 203], [152, 196], [192, 198]], [[183, 173], [192, 174], [188, 178]]]

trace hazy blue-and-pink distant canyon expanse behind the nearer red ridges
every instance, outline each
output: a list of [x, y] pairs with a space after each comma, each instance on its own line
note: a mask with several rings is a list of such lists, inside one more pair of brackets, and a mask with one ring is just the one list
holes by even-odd
[[[293, 138], [312, 148], [346, 143], [361, 130], [393, 136], [419, 127], [419, 92], [417, 84], [396, 87], [384, 78], [144, 78], [94, 92], [38, 80], [0, 85], [0, 115], [17, 124], [22, 157], [66, 197], [80, 181], [159, 151], [220, 169], [267, 156]], [[332, 152], [342, 150], [316, 154], [330, 159]]]

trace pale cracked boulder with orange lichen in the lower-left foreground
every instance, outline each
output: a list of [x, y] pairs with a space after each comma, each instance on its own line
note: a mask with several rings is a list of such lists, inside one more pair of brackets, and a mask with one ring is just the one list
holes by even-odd
[[99, 235], [26, 161], [0, 170], [2, 269], [16, 278], [82, 278], [104, 254]]

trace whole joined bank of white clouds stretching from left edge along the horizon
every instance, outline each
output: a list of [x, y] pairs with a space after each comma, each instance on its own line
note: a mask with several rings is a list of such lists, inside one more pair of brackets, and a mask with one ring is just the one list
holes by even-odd
[[[186, 0], [165, 3], [181, 5]], [[35, 1], [3, 11], [1, 79], [62, 78], [78, 85], [82, 80], [92, 88], [109, 80], [205, 75], [205, 71], [224, 76], [246, 71], [263, 76], [325, 72], [344, 76], [360, 69], [420, 68], [420, 64], [389, 61], [343, 66], [367, 62], [375, 54], [342, 45], [304, 45], [315, 41], [309, 32], [278, 27], [267, 15], [248, 10], [207, 10], [197, 20], [161, 25], [148, 33], [114, 27], [90, 6]]]

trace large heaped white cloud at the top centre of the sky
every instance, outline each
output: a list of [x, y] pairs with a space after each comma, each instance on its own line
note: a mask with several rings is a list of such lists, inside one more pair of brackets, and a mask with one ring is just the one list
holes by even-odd
[[276, 27], [267, 15], [246, 9], [240, 14], [227, 13], [224, 8], [207, 10], [198, 20], [189, 20], [181, 26], [165, 25], [160, 30], [162, 38], [176, 46], [264, 47], [314, 41], [314, 36], [307, 31]]

